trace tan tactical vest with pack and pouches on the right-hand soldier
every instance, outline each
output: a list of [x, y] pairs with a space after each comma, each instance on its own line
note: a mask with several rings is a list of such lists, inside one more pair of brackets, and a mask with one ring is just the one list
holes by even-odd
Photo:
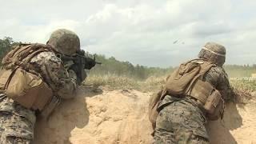
[[216, 120], [222, 116], [224, 111], [222, 95], [209, 82], [199, 79], [213, 66], [215, 65], [211, 62], [194, 59], [182, 63], [167, 77], [164, 88], [150, 98], [149, 118], [153, 128], [158, 117], [158, 105], [167, 94], [178, 98], [194, 98], [198, 106], [206, 111], [207, 118], [210, 120]]

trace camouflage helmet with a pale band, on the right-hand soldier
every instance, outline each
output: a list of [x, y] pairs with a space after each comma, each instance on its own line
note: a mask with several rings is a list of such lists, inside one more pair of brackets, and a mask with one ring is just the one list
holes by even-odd
[[207, 42], [198, 54], [199, 58], [206, 58], [218, 66], [222, 66], [226, 60], [226, 48], [215, 42]]

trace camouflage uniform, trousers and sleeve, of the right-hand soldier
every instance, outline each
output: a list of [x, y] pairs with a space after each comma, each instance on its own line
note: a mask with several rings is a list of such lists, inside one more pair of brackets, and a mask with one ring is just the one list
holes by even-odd
[[[222, 66], [210, 68], [201, 79], [210, 82], [226, 101], [230, 100], [230, 83]], [[154, 144], [209, 143], [205, 127], [206, 114], [194, 98], [175, 98], [166, 95], [158, 109], [160, 112], [154, 132]]]

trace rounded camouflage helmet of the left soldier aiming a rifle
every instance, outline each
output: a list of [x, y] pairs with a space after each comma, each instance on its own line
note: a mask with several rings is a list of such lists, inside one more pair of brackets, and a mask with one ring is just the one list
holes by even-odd
[[80, 49], [80, 40], [73, 31], [58, 29], [50, 35], [47, 45], [58, 53], [70, 55]]

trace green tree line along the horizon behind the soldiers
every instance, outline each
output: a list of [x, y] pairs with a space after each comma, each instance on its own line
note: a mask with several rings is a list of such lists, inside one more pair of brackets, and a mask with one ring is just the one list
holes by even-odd
[[[12, 38], [5, 37], [0, 39], [0, 60], [8, 53], [12, 46], [17, 44]], [[96, 54], [96, 59], [98, 62], [102, 62], [102, 65], [95, 66], [92, 70], [88, 71], [90, 74], [115, 74], [120, 76], [127, 76], [131, 78], [146, 79], [150, 76], [166, 76], [170, 74], [174, 67], [170, 66], [168, 68], [160, 67], [149, 67], [134, 65], [130, 62], [121, 62], [114, 57], [106, 58], [105, 55]], [[230, 77], [250, 77], [251, 74], [256, 73], [256, 64], [253, 66], [249, 65], [225, 65], [224, 66]]]

